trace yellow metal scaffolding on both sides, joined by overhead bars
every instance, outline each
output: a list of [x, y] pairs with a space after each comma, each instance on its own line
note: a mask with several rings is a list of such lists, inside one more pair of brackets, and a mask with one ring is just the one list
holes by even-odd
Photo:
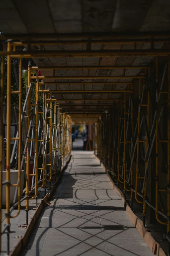
[[[61, 36], [61, 35], [60, 35]], [[39, 38], [41, 36], [39, 35]], [[47, 35], [48, 37], [48, 35]], [[7, 233], [7, 254], [9, 254], [9, 233], [10, 233], [10, 218], [11, 211], [18, 206], [18, 213], [20, 213], [20, 203], [26, 200], [26, 224], [28, 224], [28, 213], [29, 213], [29, 200], [36, 199], [38, 188], [44, 188], [46, 194], [47, 182], [52, 179], [54, 175], [55, 179], [57, 174], [60, 172], [62, 166], [65, 164], [66, 160], [70, 156], [72, 147], [72, 137], [71, 137], [71, 117], [62, 110], [61, 106], [58, 105], [57, 100], [52, 98], [52, 93], [58, 94], [87, 94], [93, 93], [93, 90], [85, 90], [85, 85], [109, 85], [112, 86], [112, 90], [95, 90], [97, 94], [120, 94], [122, 97], [112, 98], [92, 98], [90, 102], [89, 99], [84, 98], [83, 103], [80, 106], [96, 106], [102, 104], [102, 101], [108, 101], [108, 109], [102, 109], [102, 113], [99, 114], [94, 120], [96, 122], [95, 129], [95, 153], [99, 156], [101, 161], [106, 165], [110, 174], [113, 175], [113, 179], [117, 181], [118, 185], [124, 190], [125, 196], [130, 195], [130, 203], [133, 208], [133, 200], [135, 194], [135, 200], [140, 204], [143, 204], [143, 223], [145, 225], [145, 217], [147, 205], [155, 210], [156, 218], [159, 223], [167, 225], [167, 234], [170, 232], [170, 60], [168, 60], [168, 77], [167, 77], [167, 88], [162, 86], [159, 82], [159, 61], [157, 56], [168, 57], [170, 54], [169, 48], [166, 47], [166, 43], [169, 43], [169, 38], [159, 39], [156, 36], [143, 36], [138, 39], [131, 40], [115, 40], [111, 38], [110, 40], [100, 40], [96, 38], [95, 40], [67, 40], [63, 41], [44, 41], [42, 36], [41, 41], [32, 41], [31, 35], [26, 38], [27, 42], [24, 42], [25, 38], [22, 36], [22, 42], [17, 42], [15, 36], [13, 37], [13, 42], [8, 42], [7, 52], [3, 51], [0, 53], [1, 57], [1, 98], [0, 98], [0, 218], [2, 215], [1, 209], [1, 199], [2, 199], [2, 186], [6, 186], [6, 226], [2, 229], [1, 234]], [[55, 35], [56, 38], [56, 35]], [[143, 39], [144, 38], [144, 39]], [[29, 40], [28, 40], [29, 39]], [[164, 49], [156, 49], [154, 47], [155, 43], [163, 43]], [[57, 45], [57, 44], [85, 44], [87, 45], [87, 51], [46, 51], [42, 50], [43, 45]], [[91, 44], [114, 44], [114, 43], [129, 43], [134, 46], [131, 50], [100, 50], [94, 51], [91, 49]], [[137, 43], [149, 43], [149, 49], [136, 49]], [[21, 51], [19, 47], [26, 45], [26, 51]], [[40, 50], [33, 50], [32, 45], [40, 46]], [[28, 46], [28, 47], [27, 47]], [[38, 48], [38, 47], [37, 47]], [[36, 48], [36, 49], [37, 49]], [[6, 181], [2, 181], [2, 169], [3, 169], [3, 87], [4, 87], [4, 57], [7, 55], [7, 158], [6, 158]], [[52, 70], [53, 75], [51, 77], [38, 76], [38, 67], [32, 67], [28, 65], [28, 88], [27, 96], [25, 99], [24, 106], [21, 105], [21, 74], [22, 74], [22, 59], [28, 58], [91, 58], [91, 57], [136, 57], [136, 56], [152, 56], [156, 57], [156, 80], [153, 85], [151, 79], [151, 70], [149, 66], [86, 66], [86, 67], [42, 67], [40, 70]], [[20, 58], [19, 63], [19, 82], [16, 91], [11, 91], [11, 58]], [[169, 57], [168, 57], [169, 58]], [[144, 75], [138, 76], [125, 76], [125, 70], [129, 69], [144, 69]], [[134, 81], [85, 81], [85, 82], [60, 82], [61, 85], [72, 85], [72, 84], [82, 84], [83, 90], [47, 90], [44, 89], [45, 85], [57, 84], [55, 79], [80, 79], [80, 77], [56, 77], [56, 69], [87, 69], [88, 76], [81, 77], [81, 79], [95, 79], [96, 76], [89, 76], [90, 69], [122, 69], [122, 75], [110, 76], [109, 78], [116, 79], [135, 79]], [[166, 72], [165, 72], [166, 73]], [[165, 74], [166, 75], [166, 74]], [[105, 79], [108, 77], [98, 76], [98, 79]], [[16, 80], [17, 80], [16, 75]], [[43, 81], [41, 81], [43, 79]], [[53, 82], [46, 82], [47, 79], [53, 79]], [[138, 83], [136, 82], [138, 81]], [[113, 88], [113, 85], [127, 85], [128, 89], [117, 90]], [[156, 96], [152, 96], [151, 90], [156, 86]], [[58, 89], [58, 88], [57, 88]], [[137, 92], [138, 91], [138, 92]], [[19, 95], [19, 106], [14, 106], [14, 112], [16, 116], [17, 123], [17, 136], [12, 138], [14, 140], [14, 145], [18, 143], [18, 182], [16, 184], [11, 184], [10, 180], [10, 165], [12, 154], [10, 153], [10, 128], [11, 128], [11, 94]], [[145, 95], [145, 97], [144, 97]], [[167, 132], [162, 139], [163, 131], [160, 129], [162, 126], [160, 120], [163, 115], [165, 106], [161, 106], [159, 99], [161, 95], [165, 95], [167, 102]], [[138, 104], [134, 101], [134, 96], [138, 97]], [[143, 102], [143, 97], [145, 101]], [[60, 99], [61, 102], [65, 99]], [[72, 102], [80, 101], [80, 98], [69, 99], [70, 106]], [[96, 101], [97, 104], [95, 103]], [[78, 103], [79, 104], [79, 103]], [[78, 104], [75, 104], [78, 106]], [[153, 121], [151, 122], [151, 107], [154, 113]], [[18, 112], [16, 109], [18, 108]], [[26, 118], [23, 117], [23, 113], [26, 111]], [[95, 115], [96, 116], [96, 115]], [[75, 118], [75, 117], [74, 117]], [[93, 117], [92, 117], [93, 118]], [[75, 118], [75, 120], [77, 120]], [[91, 119], [90, 119], [91, 121]], [[21, 125], [23, 124], [23, 125]], [[24, 146], [21, 143], [21, 127], [24, 131]], [[166, 133], [165, 132], [165, 133]], [[142, 137], [146, 137], [142, 138]], [[163, 155], [161, 149], [164, 145], [167, 145], [167, 160]], [[32, 148], [34, 148], [34, 161], [32, 157]], [[166, 146], [164, 146], [166, 148]], [[154, 151], [155, 149], [155, 151]], [[42, 166], [39, 167], [38, 156], [42, 151]], [[156, 160], [152, 159], [152, 154]], [[24, 156], [26, 156], [26, 167], [24, 163]], [[56, 157], [57, 156], [57, 157]], [[141, 157], [142, 156], [142, 157]], [[160, 180], [160, 159], [163, 157], [166, 173], [167, 183], [161, 184]], [[140, 163], [143, 158], [143, 165]], [[58, 159], [58, 161], [57, 161]], [[31, 163], [33, 161], [33, 163]], [[30, 164], [34, 164], [33, 173], [30, 172]], [[21, 171], [24, 169], [25, 179], [26, 179], [26, 196], [20, 198], [21, 190]], [[155, 204], [150, 203], [148, 197], [148, 175], [150, 175], [150, 170], [153, 170], [152, 182], [155, 184]], [[32, 177], [32, 184], [30, 187], [30, 177]], [[160, 187], [162, 185], [162, 187]], [[12, 206], [10, 206], [10, 188], [16, 187], [15, 199]], [[31, 192], [34, 191], [35, 195], [30, 197]], [[163, 207], [161, 203], [161, 195], [164, 193], [166, 197], [166, 207]], [[142, 198], [142, 199], [141, 199]], [[164, 221], [163, 221], [164, 219]]]

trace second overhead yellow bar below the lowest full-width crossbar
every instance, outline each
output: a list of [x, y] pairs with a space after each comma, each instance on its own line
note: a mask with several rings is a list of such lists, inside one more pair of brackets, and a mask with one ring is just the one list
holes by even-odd
[[72, 76], [72, 77], [30, 77], [31, 79], [139, 79], [143, 78], [146, 79], [144, 76], [88, 76], [88, 77], [81, 77], [81, 76]]

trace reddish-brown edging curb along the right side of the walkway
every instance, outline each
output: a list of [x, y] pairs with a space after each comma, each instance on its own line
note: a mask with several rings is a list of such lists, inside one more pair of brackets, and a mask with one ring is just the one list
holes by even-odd
[[[94, 154], [94, 157], [98, 160], [98, 162], [100, 162], [100, 159], [95, 154]], [[138, 230], [139, 234], [142, 236], [142, 238], [144, 239], [146, 244], [149, 246], [149, 248], [151, 249], [153, 254], [158, 255], [158, 256], [166, 256], [161, 245], [153, 239], [153, 237], [150, 235], [150, 233], [142, 225], [141, 220], [138, 219], [138, 217], [135, 215], [135, 213], [131, 210], [130, 206], [128, 204], [126, 204], [126, 200], [125, 200], [125, 197], [124, 197], [122, 191], [115, 185], [115, 183], [111, 179], [111, 177], [108, 173], [108, 170], [106, 169], [104, 164], [100, 163], [100, 165], [103, 168], [103, 170], [106, 172], [106, 174], [110, 180], [110, 183], [113, 186], [113, 189], [121, 197], [121, 200], [123, 202], [123, 205], [125, 206], [126, 212], [129, 216], [130, 220], [132, 221], [132, 223], [134, 224], [134, 226], [136, 227], [136, 229]]]

